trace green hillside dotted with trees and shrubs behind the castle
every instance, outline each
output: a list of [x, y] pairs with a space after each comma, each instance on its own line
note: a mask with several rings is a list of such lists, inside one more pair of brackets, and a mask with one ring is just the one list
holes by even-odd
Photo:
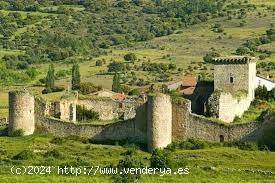
[[[182, 9], [169, 1], [96, 1], [95, 9], [89, 3], [62, 5], [49, 1], [38, 7], [23, 4], [21, 9], [17, 7], [19, 11], [2, 5], [3, 21], [15, 21], [2, 25], [0, 55], [6, 68], [1, 73], [2, 84], [39, 84], [48, 63], [54, 62], [56, 70], [65, 73], [58, 82], [67, 86], [68, 66], [78, 62], [83, 80], [110, 88], [112, 73], [107, 72], [108, 64], [125, 62], [123, 56], [129, 52], [136, 54], [137, 61], [125, 63], [127, 69], [122, 74], [126, 78], [123, 83], [132, 87], [158, 84], [183, 74], [211, 79], [211, 65], [203, 63], [207, 53], [236, 54], [246, 41], [264, 36], [274, 26], [271, 0], [202, 2], [191, 6], [182, 1]], [[194, 8], [186, 9], [189, 6]], [[260, 57], [260, 62], [269, 64], [259, 66], [258, 74], [264, 77], [274, 76], [272, 45], [268, 40], [255, 51], [241, 53]], [[97, 60], [104, 64], [95, 67]], [[173, 69], [148, 72], [142, 66], [148, 62], [171, 64]], [[38, 74], [28, 73], [31, 67]]]

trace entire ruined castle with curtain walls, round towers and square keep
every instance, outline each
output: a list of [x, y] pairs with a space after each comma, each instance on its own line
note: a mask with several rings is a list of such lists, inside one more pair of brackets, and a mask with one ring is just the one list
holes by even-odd
[[[192, 102], [162, 93], [148, 99], [114, 100], [74, 95], [48, 102], [28, 91], [9, 92], [8, 131], [24, 135], [43, 131], [54, 136], [80, 136], [95, 142], [127, 140], [147, 144], [148, 150], [164, 148], [174, 141], [197, 138], [212, 142], [249, 141], [261, 138], [265, 122], [231, 122], [241, 116], [254, 99], [256, 64], [248, 57], [216, 58], [214, 92], [208, 99], [211, 116], [227, 123], [192, 113]], [[95, 110], [108, 124], [79, 123], [76, 106]]]

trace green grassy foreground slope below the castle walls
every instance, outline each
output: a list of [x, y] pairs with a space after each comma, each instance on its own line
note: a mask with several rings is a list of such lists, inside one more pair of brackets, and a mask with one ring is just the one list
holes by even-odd
[[[52, 137], [33, 135], [28, 137], [0, 137], [1, 142], [1, 182], [111, 182], [112, 177], [106, 175], [85, 176], [15, 176], [11, 175], [12, 165], [72, 165], [72, 166], [108, 166], [116, 165], [123, 159], [123, 153], [129, 147], [84, 144], [80, 141], [66, 140], [63, 144], [50, 143]], [[22, 150], [35, 151], [35, 157], [29, 160], [12, 160]], [[45, 157], [45, 152], [56, 149], [61, 157]], [[150, 154], [138, 150], [135, 158], [148, 165]], [[275, 153], [261, 151], [242, 151], [236, 148], [209, 148], [203, 150], [176, 150], [170, 157], [172, 161], [182, 162], [182, 167], [190, 168], [190, 174], [175, 175], [144, 175], [140, 182], [263, 182], [274, 180], [273, 175], [264, 175], [257, 171], [275, 171]], [[211, 168], [213, 167], [213, 168]], [[254, 170], [255, 172], [252, 172]]]

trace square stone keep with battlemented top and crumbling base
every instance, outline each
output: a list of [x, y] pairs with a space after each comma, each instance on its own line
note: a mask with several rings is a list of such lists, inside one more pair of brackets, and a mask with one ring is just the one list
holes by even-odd
[[213, 59], [214, 92], [208, 99], [210, 116], [225, 122], [241, 117], [255, 98], [256, 60], [251, 57]]

